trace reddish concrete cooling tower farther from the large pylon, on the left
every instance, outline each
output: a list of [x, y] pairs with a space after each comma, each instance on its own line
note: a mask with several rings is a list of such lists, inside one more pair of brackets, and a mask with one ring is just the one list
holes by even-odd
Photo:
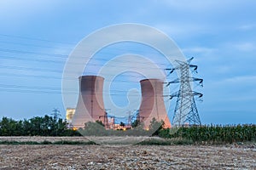
[[79, 77], [79, 101], [73, 116], [73, 127], [84, 127], [85, 122], [95, 122], [99, 116], [104, 116], [103, 82], [103, 77]]

